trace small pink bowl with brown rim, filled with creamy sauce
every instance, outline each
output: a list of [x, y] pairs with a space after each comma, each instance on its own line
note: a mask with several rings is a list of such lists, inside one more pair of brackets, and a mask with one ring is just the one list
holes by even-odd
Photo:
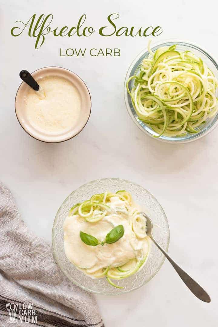
[[91, 113], [91, 96], [83, 80], [68, 69], [45, 67], [33, 72], [34, 91], [22, 82], [15, 112], [23, 129], [39, 141], [63, 142], [77, 135]]

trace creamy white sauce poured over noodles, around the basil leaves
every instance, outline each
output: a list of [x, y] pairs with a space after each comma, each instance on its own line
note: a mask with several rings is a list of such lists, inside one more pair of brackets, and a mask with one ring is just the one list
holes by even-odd
[[[64, 221], [66, 256], [78, 268], [88, 269], [84, 270], [86, 274], [92, 274], [104, 267], [122, 266], [130, 259], [145, 257], [149, 251], [149, 240], [143, 227], [145, 222], [140, 227], [137, 226], [139, 238], [132, 230], [132, 217], [138, 206], [132, 204], [127, 211], [124, 201], [119, 197], [110, 198], [107, 205], [117, 213], [107, 214], [95, 223], [88, 222], [79, 215], [69, 215]], [[80, 231], [82, 231], [96, 237], [99, 241], [104, 241], [107, 233], [118, 225], [123, 225], [124, 235], [115, 243], [93, 247], [86, 245], [80, 239]]]

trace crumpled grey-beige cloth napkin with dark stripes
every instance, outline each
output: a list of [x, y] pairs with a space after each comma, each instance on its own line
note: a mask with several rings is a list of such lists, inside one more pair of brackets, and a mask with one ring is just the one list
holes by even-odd
[[70, 282], [49, 243], [28, 231], [0, 183], [0, 326], [103, 327], [92, 294]]

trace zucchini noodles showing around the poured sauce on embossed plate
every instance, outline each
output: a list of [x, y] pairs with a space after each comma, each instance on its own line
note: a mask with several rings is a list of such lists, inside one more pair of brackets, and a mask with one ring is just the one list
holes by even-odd
[[[113, 201], [113, 198], [115, 201]], [[119, 205], [114, 204], [117, 201]], [[84, 219], [89, 223], [96, 223], [102, 219], [107, 220], [109, 216], [120, 217], [121, 224], [122, 219], [126, 220], [130, 235], [128, 242], [130, 243], [130, 248], [136, 253], [135, 258], [129, 259], [126, 262], [119, 262], [117, 265], [113, 264], [109, 267], [103, 267], [97, 271], [94, 267], [81, 268], [77, 266], [77, 268], [92, 278], [105, 277], [112, 286], [123, 288], [123, 286], [114, 284], [111, 279], [121, 280], [136, 273], [143, 267], [150, 252], [150, 239], [146, 235], [146, 218], [140, 214], [140, 211], [132, 202], [131, 195], [125, 190], [117, 191], [116, 193], [105, 192], [95, 194], [90, 200], [77, 203], [71, 208], [69, 217], [78, 219], [78, 215], [79, 219]], [[101, 244], [97, 245], [97, 247], [101, 246]], [[107, 246], [110, 246], [110, 244]]]

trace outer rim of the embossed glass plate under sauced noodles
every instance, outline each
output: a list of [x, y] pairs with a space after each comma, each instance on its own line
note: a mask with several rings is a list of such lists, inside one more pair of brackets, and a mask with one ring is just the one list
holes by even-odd
[[[65, 199], [64, 199], [64, 201], [62, 202], [62, 204], [60, 205], [60, 207], [59, 207], [59, 209], [58, 209], [58, 211], [57, 211], [57, 213], [56, 213], [56, 215], [55, 215], [55, 219], [54, 219], [54, 223], [53, 223], [53, 228], [52, 228], [52, 249], [53, 249], [53, 256], [54, 256], [54, 260], [55, 260], [55, 262], [56, 262], [56, 264], [59, 266], [59, 268], [61, 269], [61, 271], [63, 272], [63, 274], [71, 281], [71, 282], [73, 282], [75, 285], [77, 285], [77, 286], [79, 286], [79, 287], [81, 287], [82, 289], [84, 289], [85, 291], [88, 291], [88, 292], [92, 292], [92, 293], [95, 293], [95, 294], [101, 294], [101, 295], [122, 295], [122, 294], [125, 294], [125, 293], [129, 293], [129, 292], [132, 292], [133, 290], [136, 290], [136, 289], [139, 289], [139, 288], [141, 288], [143, 285], [145, 285], [145, 284], [147, 284], [158, 272], [159, 272], [159, 270], [160, 270], [160, 268], [162, 267], [162, 265], [163, 265], [163, 263], [164, 263], [164, 261], [165, 261], [165, 256], [163, 255], [162, 256], [162, 260], [161, 260], [161, 263], [160, 263], [160, 265], [159, 265], [159, 267], [156, 269], [156, 271], [152, 274], [152, 276], [147, 280], [147, 281], [145, 281], [143, 284], [141, 284], [141, 285], [139, 285], [139, 286], [136, 286], [136, 287], [133, 287], [132, 289], [130, 289], [130, 290], [122, 290], [122, 292], [119, 292], [119, 293], [106, 293], [106, 292], [101, 292], [101, 291], [93, 291], [93, 290], [91, 290], [91, 289], [89, 289], [88, 287], [85, 287], [85, 286], [83, 286], [83, 285], [81, 285], [81, 284], [79, 284], [79, 283], [77, 283], [77, 282], [75, 282], [75, 280], [71, 277], [71, 275], [67, 272], [67, 271], [65, 271], [65, 269], [62, 267], [62, 265], [60, 264], [60, 262], [59, 262], [59, 259], [58, 259], [58, 257], [57, 257], [57, 255], [56, 255], [56, 252], [54, 251], [54, 242], [55, 242], [55, 240], [54, 240], [54, 234], [55, 234], [55, 228], [54, 228], [54, 226], [55, 226], [55, 224], [56, 224], [56, 222], [57, 222], [57, 220], [58, 220], [58, 215], [59, 215], [59, 212], [60, 212], [60, 210], [61, 210], [61, 208], [62, 208], [62, 205], [67, 201], [67, 199], [70, 197], [70, 196], [73, 196], [74, 195], [74, 193], [77, 191], [77, 190], [79, 190], [79, 189], [82, 189], [84, 186], [86, 186], [87, 184], [92, 184], [92, 183], [96, 183], [97, 181], [107, 181], [107, 180], [112, 180], [112, 181], [125, 181], [125, 182], [127, 182], [127, 183], [130, 183], [130, 184], [133, 184], [133, 185], [135, 185], [135, 186], [138, 186], [138, 187], [142, 187], [143, 188], [143, 190], [144, 191], [146, 191], [158, 204], [159, 204], [159, 206], [160, 206], [160, 210], [161, 210], [161, 212], [162, 212], [162, 214], [163, 214], [163, 216], [164, 216], [164, 219], [165, 219], [165, 221], [166, 221], [166, 225], [167, 225], [167, 230], [168, 230], [168, 237], [167, 237], [167, 244], [166, 244], [166, 249], [165, 249], [165, 251], [166, 252], [168, 252], [168, 249], [169, 249], [169, 243], [170, 243], [170, 229], [169, 229], [169, 223], [168, 223], [168, 219], [167, 219], [167, 216], [166, 216], [166, 214], [165, 214], [165, 212], [164, 212], [164, 210], [163, 210], [163, 208], [162, 208], [162, 206], [161, 206], [161, 204], [159, 203], [159, 201], [153, 196], [153, 194], [152, 193], [150, 193], [148, 190], [146, 190], [143, 186], [141, 186], [141, 185], [139, 185], [139, 184], [137, 184], [137, 183], [135, 183], [135, 182], [132, 182], [132, 181], [129, 181], [129, 180], [126, 180], [126, 179], [121, 179], [121, 178], [113, 178], [113, 177], [108, 177], [108, 178], [100, 178], [100, 179], [97, 179], [97, 180], [92, 180], [92, 181], [89, 181], [89, 182], [87, 182], [87, 183], [85, 183], [85, 184], [83, 184], [83, 185], [81, 185], [81, 186], [79, 186], [79, 187], [77, 187], [73, 192], [71, 192]], [[140, 273], [140, 272], [139, 272]]]

